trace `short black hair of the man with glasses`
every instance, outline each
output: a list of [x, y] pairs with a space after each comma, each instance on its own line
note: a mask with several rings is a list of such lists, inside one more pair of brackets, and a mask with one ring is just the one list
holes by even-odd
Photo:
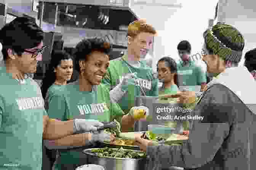
[[7, 59], [8, 49], [12, 49], [16, 54], [22, 55], [24, 49], [38, 46], [43, 38], [43, 30], [38, 27], [33, 19], [17, 17], [0, 30], [3, 59]]

